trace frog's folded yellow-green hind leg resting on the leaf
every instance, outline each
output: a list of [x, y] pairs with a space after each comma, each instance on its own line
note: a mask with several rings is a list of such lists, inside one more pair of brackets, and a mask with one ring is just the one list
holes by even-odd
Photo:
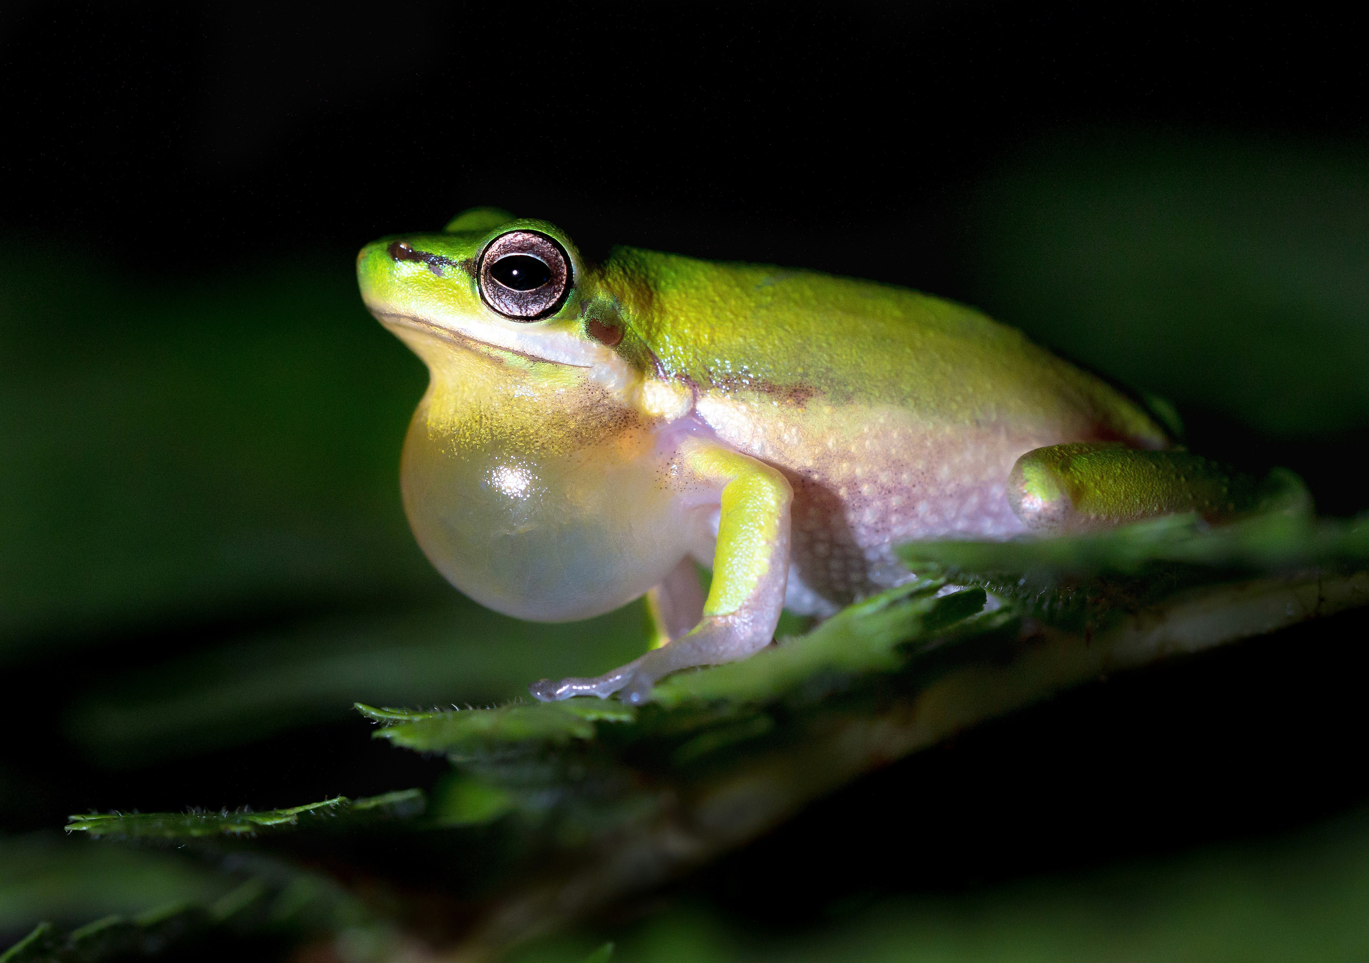
[[1259, 486], [1246, 475], [1180, 450], [1121, 445], [1051, 445], [1028, 451], [1008, 476], [1008, 502], [1040, 533], [1109, 528], [1197, 512], [1209, 521], [1255, 507]]

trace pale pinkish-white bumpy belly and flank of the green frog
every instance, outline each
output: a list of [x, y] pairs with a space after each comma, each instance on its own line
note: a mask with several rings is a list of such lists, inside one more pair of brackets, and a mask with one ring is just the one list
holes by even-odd
[[1069, 414], [1019, 428], [927, 427], [897, 408], [760, 421], [728, 417], [735, 409], [724, 406], [708, 414], [719, 438], [789, 477], [794, 503], [786, 605], [810, 614], [906, 581], [910, 573], [893, 553], [897, 544], [1025, 532], [1005, 497], [1013, 462], [1046, 445], [1116, 438], [1091, 419]]

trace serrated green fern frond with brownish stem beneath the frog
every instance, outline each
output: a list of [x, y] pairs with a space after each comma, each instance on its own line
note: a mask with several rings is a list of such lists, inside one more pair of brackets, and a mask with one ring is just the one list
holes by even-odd
[[[439, 713], [357, 710], [383, 726], [375, 736], [446, 752], [457, 763], [424, 818], [408, 825], [424, 830], [413, 845], [426, 856], [442, 845], [460, 860], [478, 852], [464, 848], [475, 840], [493, 844], [486, 852], [509, 854], [479, 874], [487, 886], [481, 897], [494, 907], [479, 940], [505, 948], [530, 927], [563, 925], [687, 871], [891, 759], [1102, 672], [1365, 603], [1366, 573], [1301, 572], [1176, 592], [1144, 618], [1094, 635], [1024, 633], [1014, 603], [986, 610], [983, 590], [924, 579], [747, 662], [667, 680], [657, 687], [664, 698], [641, 710], [598, 699]], [[357, 818], [364, 813], [353, 810], [412, 797], [74, 823], [97, 834], [241, 836], [344, 825], [344, 807]], [[519, 818], [501, 818], [509, 813]], [[486, 829], [433, 832], [478, 825]], [[226, 911], [255, 899], [251, 891], [220, 897]]]

